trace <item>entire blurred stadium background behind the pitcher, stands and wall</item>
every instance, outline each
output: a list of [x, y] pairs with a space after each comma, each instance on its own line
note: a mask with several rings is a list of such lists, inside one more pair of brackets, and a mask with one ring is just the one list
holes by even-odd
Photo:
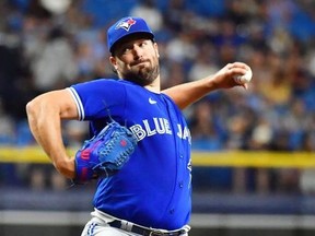
[[[79, 235], [93, 185], [69, 188], [36, 146], [25, 104], [113, 76], [105, 30], [148, 19], [163, 87], [250, 64], [248, 91], [185, 110], [192, 134], [192, 236], [315, 233], [315, 2], [312, 0], [3, 0], [0, 3], [0, 235]], [[84, 122], [65, 121], [73, 152]], [[154, 185], [154, 184], [152, 184]]]

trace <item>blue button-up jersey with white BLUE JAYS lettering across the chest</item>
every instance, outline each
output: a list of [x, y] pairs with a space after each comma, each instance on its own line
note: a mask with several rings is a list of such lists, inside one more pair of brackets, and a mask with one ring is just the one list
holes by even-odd
[[80, 120], [94, 135], [114, 119], [138, 138], [129, 162], [101, 178], [94, 206], [147, 227], [176, 229], [191, 211], [190, 133], [185, 118], [165, 94], [124, 80], [101, 79], [70, 87]]

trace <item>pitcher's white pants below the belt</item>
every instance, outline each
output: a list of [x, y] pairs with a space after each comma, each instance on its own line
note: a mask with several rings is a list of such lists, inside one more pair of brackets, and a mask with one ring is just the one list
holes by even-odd
[[[112, 227], [108, 223], [117, 220], [110, 215], [101, 213], [95, 210], [91, 213], [92, 219], [85, 224], [85, 227], [81, 236], [139, 236], [139, 234], [122, 231], [120, 228]], [[185, 226], [189, 231], [189, 226]], [[188, 236], [188, 233], [184, 233], [180, 236]]]

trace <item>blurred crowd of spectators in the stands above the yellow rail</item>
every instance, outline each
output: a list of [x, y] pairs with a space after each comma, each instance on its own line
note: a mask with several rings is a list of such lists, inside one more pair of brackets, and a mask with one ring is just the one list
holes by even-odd
[[[106, 30], [138, 15], [155, 32], [163, 87], [233, 61], [253, 69], [247, 91], [217, 91], [185, 110], [194, 150], [315, 151], [313, 0], [4, 0], [0, 15], [2, 145], [34, 144], [25, 116], [34, 96], [116, 78]], [[63, 127], [69, 146], [88, 137], [84, 122]], [[296, 184], [295, 169], [283, 175]]]

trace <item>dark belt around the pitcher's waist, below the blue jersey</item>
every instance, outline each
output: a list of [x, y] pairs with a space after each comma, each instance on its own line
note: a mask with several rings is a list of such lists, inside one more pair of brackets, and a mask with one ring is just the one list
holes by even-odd
[[124, 226], [124, 223], [121, 221], [118, 221], [118, 220], [115, 220], [108, 224], [112, 227], [121, 228], [124, 231], [132, 232], [132, 233], [143, 235], [143, 236], [179, 236], [179, 235], [186, 233], [185, 229], [178, 229], [175, 232], [159, 232], [159, 231], [144, 228], [144, 227], [141, 227], [138, 225], [132, 225], [130, 228], [126, 229], [126, 227]]

